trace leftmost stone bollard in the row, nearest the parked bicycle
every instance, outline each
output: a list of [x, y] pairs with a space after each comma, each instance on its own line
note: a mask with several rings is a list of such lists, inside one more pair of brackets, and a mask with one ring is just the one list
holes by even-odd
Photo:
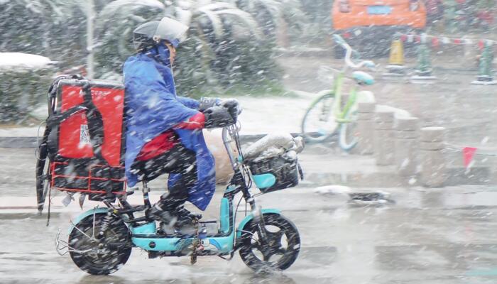
[[361, 155], [371, 155], [374, 153], [374, 111], [376, 104], [373, 102], [359, 102], [357, 104], [357, 131], [359, 137], [356, 150]]

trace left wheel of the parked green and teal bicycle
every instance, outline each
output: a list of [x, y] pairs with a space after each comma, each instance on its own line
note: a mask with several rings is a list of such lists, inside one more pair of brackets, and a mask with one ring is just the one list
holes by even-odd
[[338, 129], [333, 114], [334, 94], [329, 90], [324, 92], [310, 105], [302, 119], [302, 135], [308, 142], [322, 142]]

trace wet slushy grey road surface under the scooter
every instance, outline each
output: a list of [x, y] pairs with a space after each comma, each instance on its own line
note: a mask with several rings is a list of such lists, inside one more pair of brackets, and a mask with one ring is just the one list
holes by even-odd
[[[354, 207], [345, 195], [295, 188], [258, 199], [295, 222], [302, 251], [283, 273], [254, 275], [232, 261], [148, 259], [133, 249], [120, 271], [94, 277], [55, 253], [57, 229], [77, 212], [0, 214], [0, 283], [496, 283], [497, 188], [389, 189], [395, 203]], [[216, 217], [219, 200], [205, 218]]]

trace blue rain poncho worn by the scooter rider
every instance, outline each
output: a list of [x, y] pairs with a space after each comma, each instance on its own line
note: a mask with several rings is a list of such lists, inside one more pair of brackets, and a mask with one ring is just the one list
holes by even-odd
[[[195, 99], [176, 95], [169, 50], [164, 45], [133, 55], [124, 63], [126, 87], [126, 178], [130, 187], [138, 176], [131, 165], [141, 148], [164, 131], [197, 114]], [[197, 154], [197, 183], [190, 189], [188, 201], [204, 210], [216, 187], [214, 157], [209, 152], [202, 131], [175, 129], [181, 143]], [[170, 174], [168, 187], [181, 178]]]

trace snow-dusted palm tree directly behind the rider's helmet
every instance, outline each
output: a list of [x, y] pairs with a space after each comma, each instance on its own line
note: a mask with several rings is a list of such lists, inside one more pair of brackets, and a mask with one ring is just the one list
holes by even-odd
[[[191, 92], [201, 85], [230, 84], [246, 80], [251, 68], [241, 69], [241, 62], [272, 62], [271, 49], [263, 49], [263, 33], [253, 17], [234, 4], [212, 1], [116, 0], [104, 6], [97, 16], [99, 69], [104, 77], [119, 77], [121, 64], [133, 54], [132, 30], [139, 23], [170, 16], [190, 26], [188, 40], [178, 53], [176, 74], [178, 88]], [[120, 19], [116, 21], [116, 19]], [[257, 50], [258, 60], [248, 62], [248, 54]], [[267, 52], [268, 51], [268, 52]], [[266, 69], [273, 64], [260, 64]], [[245, 67], [245, 66], [244, 66]], [[253, 69], [253, 68], [252, 68]], [[267, 75], [269, 70], [251, 72]], [[249, 76], [250, 77], [250, 76]]]

